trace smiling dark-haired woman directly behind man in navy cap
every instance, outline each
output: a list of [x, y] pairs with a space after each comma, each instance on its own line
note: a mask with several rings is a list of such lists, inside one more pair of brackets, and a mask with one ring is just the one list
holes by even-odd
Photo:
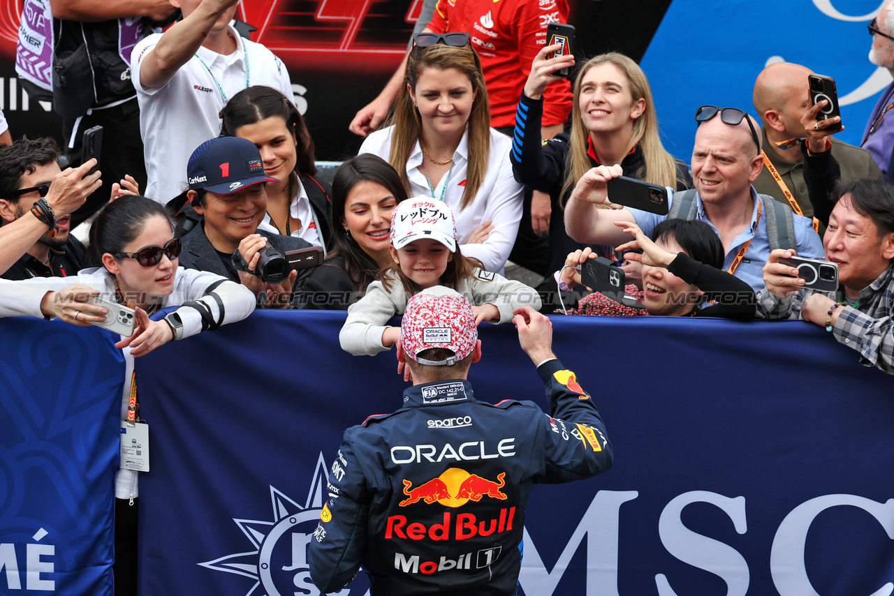
[[280, 180], [266, 185], [266, 215], [257, 229], [332, 248], [332, 189], [314, 178], [314, 141], [298, 109], [277, 89], [256, 85], [234, 95], [220, 116], [221, 134], [249, 139], [261, 154], [264, 173]]

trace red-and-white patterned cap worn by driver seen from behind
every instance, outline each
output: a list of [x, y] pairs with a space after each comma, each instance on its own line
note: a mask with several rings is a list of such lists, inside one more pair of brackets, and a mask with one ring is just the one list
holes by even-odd
[[[471, 354], [477, 340], [472, 306], [456, 290], [432, 286], [407, 300], [401, 322], [401, 348], [420, 365], [452, 365]], [[428, 348], [446, 348], [453, 356], [437, 361], [417, 357]]]

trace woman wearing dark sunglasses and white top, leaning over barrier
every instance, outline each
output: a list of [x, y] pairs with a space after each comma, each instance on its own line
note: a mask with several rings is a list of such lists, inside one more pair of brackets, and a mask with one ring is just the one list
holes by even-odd
[[[88, 326], [105, 320], [107, 310], [89, 301], [105, 299], [136, 311], [139, 325], [115, 344], [125, 363], [122, 421], [128, 420], [131, 390], [136, 397], [133, 358], [171, 340], [181, 340], [222, 324], [235, 323], [255, 308], [255, 297], [238, 283], [214, 273], [178, 267], [180, 239], [164, 207], [146, 197], [120, 197], [97, 214], [89, 249], [102, 266], [69, 277], [0, 281], [0, 316], [58, 318]], [[178, 306], [157, 321], [157, 310]], [[136, 400], [134, 399], [134, 405]], [[136, 415], [131, 420], [136, 419]], [[137, 474], [115, 476], [115, 587], [136, 593]], [[124, 592], [121, 592], [124, 593]]]

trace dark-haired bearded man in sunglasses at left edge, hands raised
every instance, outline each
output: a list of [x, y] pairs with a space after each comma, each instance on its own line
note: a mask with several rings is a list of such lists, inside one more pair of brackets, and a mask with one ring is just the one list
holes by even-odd
[[[66, 277], [86, 264], [87, 249], [70, 236], [72, 212], [102, 184], [91, 159], [59, 169], [53, 139], [0, 147], [0, 277]], [[36, 211], [34, 211], [36, 209]]]

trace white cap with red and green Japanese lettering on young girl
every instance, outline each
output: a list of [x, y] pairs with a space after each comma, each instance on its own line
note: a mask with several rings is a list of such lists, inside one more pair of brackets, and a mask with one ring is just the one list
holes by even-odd
[[413, 197], [401, 202], [392, 213], [392, 246], [395, 250], [413, 240], [437, 240], [456, 252], [456, 222], [453, 210], [432, 197]]

